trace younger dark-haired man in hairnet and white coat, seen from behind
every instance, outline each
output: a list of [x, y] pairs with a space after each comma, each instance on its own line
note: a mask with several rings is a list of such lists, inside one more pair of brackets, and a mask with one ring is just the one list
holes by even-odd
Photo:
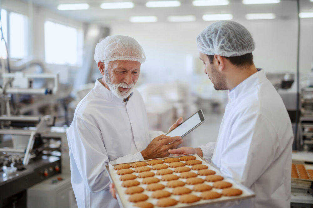
[[223, 174], [255, 192], [239, 207], [290, 207], [293, 132], [284, 103], [253, 63], [250, 32], [220, 21], [197, 37], [204, 72], [216, 90], [230, 90], [216, 143], [181, 147], [172, 154], [198, 153]]

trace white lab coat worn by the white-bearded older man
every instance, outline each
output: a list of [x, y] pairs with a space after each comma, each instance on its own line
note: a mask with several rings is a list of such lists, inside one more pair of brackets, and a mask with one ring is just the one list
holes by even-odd
[[[149, 134], [150, 133], [150, 134]], [[119, 207], [109, 192], [105, 165], [141, 161], [142, 150], [162, 132], [148, 131], [145, 105], [134, 89], [128, 102], [98, 80], [76, 107], [67, 131], [71, 181], [79, 208]]]

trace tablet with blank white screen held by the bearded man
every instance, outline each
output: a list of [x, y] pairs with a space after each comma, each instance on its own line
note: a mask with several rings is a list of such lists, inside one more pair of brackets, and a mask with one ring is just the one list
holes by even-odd
[[189, 134], [192, 130], [200, 126], [205, 121], [203, 112], [200, 109], [198, 112], [187, 118], [179, 126], [172, 131], [168, 132], [166, 136], [181, 136], [184, 137]]

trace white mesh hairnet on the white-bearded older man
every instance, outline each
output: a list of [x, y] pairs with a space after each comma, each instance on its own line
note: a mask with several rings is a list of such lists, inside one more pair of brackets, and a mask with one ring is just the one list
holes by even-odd
[[141, 45], [132, 37], [112, 35], [105, 37], [97, 43], [95, 48], [95, 61], [111, 62], [127, 60], [145, 62], [146, 55]]

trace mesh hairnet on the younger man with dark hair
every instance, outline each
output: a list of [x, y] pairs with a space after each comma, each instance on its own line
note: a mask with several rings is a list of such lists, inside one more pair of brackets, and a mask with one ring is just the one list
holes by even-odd
[[233, 21], [218, 21], [197, 36], [198, 50], [207, 55], [242, 56], [254, 51], [255, 43], [243, 25]]

